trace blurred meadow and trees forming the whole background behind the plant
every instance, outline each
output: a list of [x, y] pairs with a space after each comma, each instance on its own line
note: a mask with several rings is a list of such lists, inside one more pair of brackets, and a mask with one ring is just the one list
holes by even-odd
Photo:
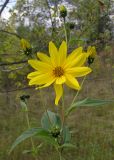
[[[113, 1], [110, 0], [17, 0], [10, 10], [11, 17], [0, 19], [0, 160], [32, 160], [31, 155], [21, 154], [30, 147], [29, 141], [21, 144], [8, 155], [8, 150], [20, 133], [26, 129], [24, 113], [19, 97], [30, 94], [29, 115], [31, 126], [38, 126], [43, 112], [39, 92], [28, 87], [26, 75], [31, 68], [27, 60], [35, 58], [37, 51], [47, 53], [48, 42], [57, 46], [64, 36], [63, 21], [58, 5], [68, 10], [66, 19], [69, 52], [77, 46], [97, 48], [98, 55], [92, 66], [93, 73], [87, 78], [81, 97], [113, 99], [114, 96], [114, 47], [113, 47]], [[32, 53], [26, 55], [20, 39], [27, 39]], [[45, 103], [53, 107], [54, 93], [44, 89]], [[66, 88], [66, 107], [75, 91]], [[114, 109], [79, 108], [68, 123], [73, 129], [74, 150], [64, 150], [66, 160], [113, 160], [114, 159]], [[74, 130], [74, 128], [76, 128]], [[37, 144], [39, 141], [34, 140]], [[40, 158], [41, 157], [41, 158]], [[57, 159], [53, 148], [45, 146], [39, 152], [39, 160]]]

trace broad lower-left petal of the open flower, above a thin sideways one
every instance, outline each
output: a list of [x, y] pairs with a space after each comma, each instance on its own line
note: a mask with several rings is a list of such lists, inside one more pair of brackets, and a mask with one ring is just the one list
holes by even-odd
[[43, 85], [50, 82], [51, 80], [52, 76], [49, 73], [45, 73], [32, 78], [29, 81], [29, 85]]

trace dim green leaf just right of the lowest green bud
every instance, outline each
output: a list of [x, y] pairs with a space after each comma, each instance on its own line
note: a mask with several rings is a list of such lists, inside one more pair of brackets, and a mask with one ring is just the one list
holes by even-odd
[[69, 128], [67, 126], [65, 126], [63, 128], [63, 141], [64, 143], [69, 143], [71, 140], [71, 133], [69, 131]]

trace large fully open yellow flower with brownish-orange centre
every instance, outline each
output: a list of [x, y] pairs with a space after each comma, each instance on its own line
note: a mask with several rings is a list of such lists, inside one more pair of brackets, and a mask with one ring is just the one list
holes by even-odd
[[91, 72], [89, 67], [84, 67], [86, 55], [82, 53], [82, 47], [75, 49], [67, 56], [67, 45], [63, 41], [59, 50], [53, 42], [49, 43], [49, 55], [38, 53], [39, 60], [29, 60], [28, 63], [35, 69], [29, 73], [29, 85], [48, 87], [54, 84], [56, 93], [55, 104], [63, 94], [63, 84], [75, 90], [80, 90], [76, 77], [82, 77]]

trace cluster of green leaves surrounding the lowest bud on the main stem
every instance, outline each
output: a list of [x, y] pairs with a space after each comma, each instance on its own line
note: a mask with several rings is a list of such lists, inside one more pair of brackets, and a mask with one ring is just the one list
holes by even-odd
[[[40, 128], [30, 128], [23, 132], [13, 143], [9, 153], [21, 142], [28, 138], [37, 136], [48, 144], [53, 145], [56, 148], [74, 147], [70, 144], [71, 134], [67, 126], [61, 128], [60, 117], [51, 111], [46, 111], [41, 119]], [[28, 153], [28, 152], [27, 152]], [[30, 152], [29, 152], [30, 153]]]

